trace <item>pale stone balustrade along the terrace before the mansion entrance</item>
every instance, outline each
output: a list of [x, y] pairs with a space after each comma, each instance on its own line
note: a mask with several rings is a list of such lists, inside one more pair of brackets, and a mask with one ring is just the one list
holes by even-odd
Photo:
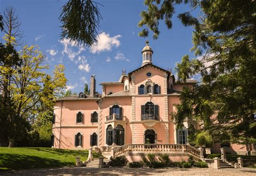
[[125, 144], [113, 149], [113, 157], [122, 156], [127, 152], [188, 152], [200, 157], [200, 150], [188, 144]]

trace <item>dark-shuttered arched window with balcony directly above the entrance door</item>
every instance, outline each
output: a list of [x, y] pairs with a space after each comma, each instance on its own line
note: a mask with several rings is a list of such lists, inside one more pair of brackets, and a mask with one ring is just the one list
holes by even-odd
[[145, 120], [158, 120], [159, 119], [159, 107], [152, 102], [147, 102], [142, 105], [142, 121]]

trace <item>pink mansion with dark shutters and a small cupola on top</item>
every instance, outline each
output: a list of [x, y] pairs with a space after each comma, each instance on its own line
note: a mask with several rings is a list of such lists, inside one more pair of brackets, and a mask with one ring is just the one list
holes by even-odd
[[[123, 74], [116, 82], [102, 82], [102, 95], [95, 92], [91, 76], [90, 95], [60, 98], [54, 108], [53, 147], [89, 149], [125, 144], [187, 144], [188, 129], [199, 128], [196, 121], [184, 122], [177, 130], [171, 114], [184, 86], [196, 80], [177, 82], [166, 69], [152, 64], [153, 50], [146, 42], [142, 65]], [[232, 145], [231, 151], [246, 152]], [[220, 152], [220, 145], [212, 147]]]

